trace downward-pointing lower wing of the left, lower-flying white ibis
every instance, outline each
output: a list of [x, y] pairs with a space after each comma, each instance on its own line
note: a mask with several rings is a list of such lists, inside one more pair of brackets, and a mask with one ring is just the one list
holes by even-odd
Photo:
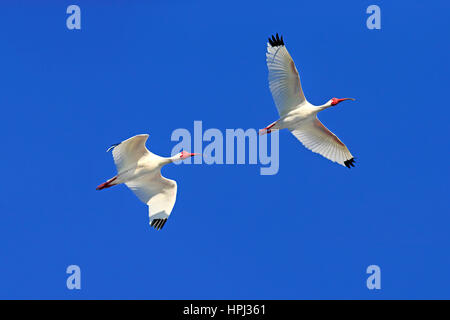
[[150, 225], [155, 229], [161, 229], [175, 205], [177, 183], [158, 173], [133, 179], [125, 184], [139, 200], [148, 205]]

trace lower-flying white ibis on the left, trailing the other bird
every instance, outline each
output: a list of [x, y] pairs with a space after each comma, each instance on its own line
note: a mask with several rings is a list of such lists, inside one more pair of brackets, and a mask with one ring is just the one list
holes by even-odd
[[150, 226], [160, 230], [164, 227], [177, 197], [177, 183], [161, 175], [161, 168], [171, 162], [183, 160], [197, 153], [182, 151], [170, 158], [151, 153], [145, 147], [148, 134], [139, 134], [121, 143], [112, 145], [117, 175], [97, 187], [109, 188], [121, 183], [148, 205]]

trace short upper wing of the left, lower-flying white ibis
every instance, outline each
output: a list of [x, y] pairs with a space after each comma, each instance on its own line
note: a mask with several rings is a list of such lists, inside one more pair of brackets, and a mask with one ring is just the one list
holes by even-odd
[[112, 154], [118, 173], [136, 168], [142, 157], [152, 154], [145, 147], [147, 138], [148, 134], [139, 134], [111, 146], [113, 148]]

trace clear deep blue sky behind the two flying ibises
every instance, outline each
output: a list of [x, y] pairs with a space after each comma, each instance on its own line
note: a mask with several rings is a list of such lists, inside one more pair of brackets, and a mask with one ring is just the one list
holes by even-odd
[[[189, 3], [187, 3], [189, 2]], [[82, 30], [66, 28], [78, 4]], [[382, 29], [366, 28], [381, 7]], [[0, 298], [450, 298], [448, 1], [3, 1]], [[280, 170], [167, 166], [160, 232], [106, 148], [138, 133], [277, 119], [266, 39], [284, 35], [351, 170], [280, 134]], [[66, 288], [66, 267], [82, 290]], [[382, 289], [366, 288], [381, 267]]]

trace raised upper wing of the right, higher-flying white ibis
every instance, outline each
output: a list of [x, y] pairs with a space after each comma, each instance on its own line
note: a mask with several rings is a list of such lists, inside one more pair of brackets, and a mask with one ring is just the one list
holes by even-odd
[[283, 37], [280, 39], [278, 34], [269, 38], [266, 62], [270, 91], [281, 117], [296, 109], [306, 99], [294, 60], [284, 46]]

